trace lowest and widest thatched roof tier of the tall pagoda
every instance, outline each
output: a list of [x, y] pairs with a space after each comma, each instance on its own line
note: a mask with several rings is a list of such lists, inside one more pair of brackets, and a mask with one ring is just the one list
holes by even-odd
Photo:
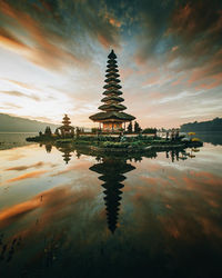
[[124, 122], [124, 121], [132, 121], [135, 119], [135, 117], [124, 112], [109, 111], [109, 112], [94, 113], [90, 116], [90, 119], [93, 121], [120, 120]]

